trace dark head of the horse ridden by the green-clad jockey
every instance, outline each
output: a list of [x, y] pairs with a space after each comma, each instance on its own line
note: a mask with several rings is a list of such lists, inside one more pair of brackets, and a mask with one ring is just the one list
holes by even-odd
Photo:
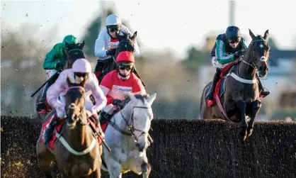
[[82, 43], [76, 44], [69, 44], [67, 42], [65, 43], [63, 52], [65, 55], [67, 55], [67, 60], [66, 65], [64, 65], [64, 69], [71, 69], [75, 60], [85, 58], [84, 52], [82, 51], [83, 48], [84, 41]]

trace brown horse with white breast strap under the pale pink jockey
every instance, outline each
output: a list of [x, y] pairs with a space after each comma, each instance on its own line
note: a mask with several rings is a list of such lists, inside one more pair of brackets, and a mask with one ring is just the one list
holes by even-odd
[[[62, 131], [55, 133], [57, 140], [54, 149], [45, 146], [42, 132], [38, 139], [36, 147], [40, 171], [45, 177], [52, 177], [50, 165], [55, 160], [62, 177], [101, 177], [102, 147], [93, 135], [84, 107], [86, 80], [81, 84], [75, 84], [70, 82], [68, 77], [67, 83], [69, 85], [65, 95], [67, 118]], [[55, 110], [47, 118], [52, 118], [52, 114], [55, 114]]]

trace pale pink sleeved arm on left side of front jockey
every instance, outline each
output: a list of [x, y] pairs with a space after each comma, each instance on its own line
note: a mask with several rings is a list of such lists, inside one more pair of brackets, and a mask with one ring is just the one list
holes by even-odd
[[62, 109], [64, 107], [64, 104], [57, 97], [62, 91], [67, 89], [67, 76], [65, 74], [65, 71], [61, 72], [55, 83], [48, 88], [46, 93], [47, 103], [55, 109]]

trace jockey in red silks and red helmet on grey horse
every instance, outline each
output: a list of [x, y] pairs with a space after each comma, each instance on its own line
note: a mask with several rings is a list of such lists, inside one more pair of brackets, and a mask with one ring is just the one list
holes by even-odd
[[[125, 99], [125, 94], [147, 94], [141, 79], [132, 71], [135, 68], [135, 57], [132, 52], [120, 52], [116, 58], [117, 69], [103, 77], [100, 84], [103, 93], [107, 96], [107, 105], [119, 105]], [[100, 121], [106, 121], [112, 113], [102, 111]]]

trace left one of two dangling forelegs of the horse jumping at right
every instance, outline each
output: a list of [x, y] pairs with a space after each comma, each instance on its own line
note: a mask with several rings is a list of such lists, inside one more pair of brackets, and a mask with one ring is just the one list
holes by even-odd
[[239, 139], [246, 140], [246, 129], [248, 128], [248, 123], [246, 122], [246, 102], [243, 100], [237, 101], [237, 107], [241, 112], [241, 131], [239, 132]]

